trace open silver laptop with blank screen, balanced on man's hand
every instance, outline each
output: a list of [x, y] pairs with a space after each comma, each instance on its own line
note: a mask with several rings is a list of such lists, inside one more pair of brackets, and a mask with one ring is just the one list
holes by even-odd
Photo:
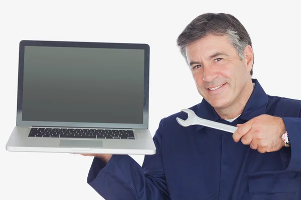
[[149, 46], [22, 40], [9, 151], [155, 154]]

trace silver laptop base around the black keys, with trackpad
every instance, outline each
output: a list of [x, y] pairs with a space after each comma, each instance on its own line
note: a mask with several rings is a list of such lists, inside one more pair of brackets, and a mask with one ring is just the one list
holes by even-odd
[[156, 147], [148, 129], [134, 129], [135, 139], [30, 137], [31, 127], [15, 126], [7, 144], [8, 151], [155, 154]]

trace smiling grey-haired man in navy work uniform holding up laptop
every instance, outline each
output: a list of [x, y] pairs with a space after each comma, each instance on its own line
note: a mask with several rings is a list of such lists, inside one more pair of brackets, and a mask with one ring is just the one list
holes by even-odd
[[301, 199], [301, 101], [270, 96], [252, 79], [253, 50], [232, 15], [205, 13], [178, 37], [203, 100], [198, 116], [235, 133], [160, 121], [157, 153], [94, 155], [88, 183], [105, 199]]

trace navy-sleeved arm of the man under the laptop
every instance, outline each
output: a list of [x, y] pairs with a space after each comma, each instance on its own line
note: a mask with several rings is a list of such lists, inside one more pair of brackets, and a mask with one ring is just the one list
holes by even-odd
[[162, 121], [154, 135], [156, 154], [145, 155], [142, 167], [129, 155], [113, 155], [107, 164], [94, 157], [88, 184], [105, 199], [170, 199], [162, 163]]

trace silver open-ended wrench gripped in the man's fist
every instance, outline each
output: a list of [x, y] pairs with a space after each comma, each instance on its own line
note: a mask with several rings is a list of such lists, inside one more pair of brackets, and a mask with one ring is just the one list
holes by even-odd
[[208, 127], [216, 128], [219, 130], [224, 130], [227, 132], [232, 132], [232, 133], [234, 133], [235, 130], [237, 129], [237, 127], [233, 126], [233, 125], [228, 125], [228, 124], [219, 123], [216, 121], [211, 121], [208, 119], [201, 118], [201, 117], [197, 116], [195, 114], [195, 112], [191, 109], [182, 109], [182, 111], [184, 111], [188, 114], [188, 118], [186, 120], [183, 120], [183, 119], [177, 117], [176, 119], [177, 119], [178, 123], [184, 127], [198, 124], [198, 125], [204, 125], [204, 126], [208, 126]]

